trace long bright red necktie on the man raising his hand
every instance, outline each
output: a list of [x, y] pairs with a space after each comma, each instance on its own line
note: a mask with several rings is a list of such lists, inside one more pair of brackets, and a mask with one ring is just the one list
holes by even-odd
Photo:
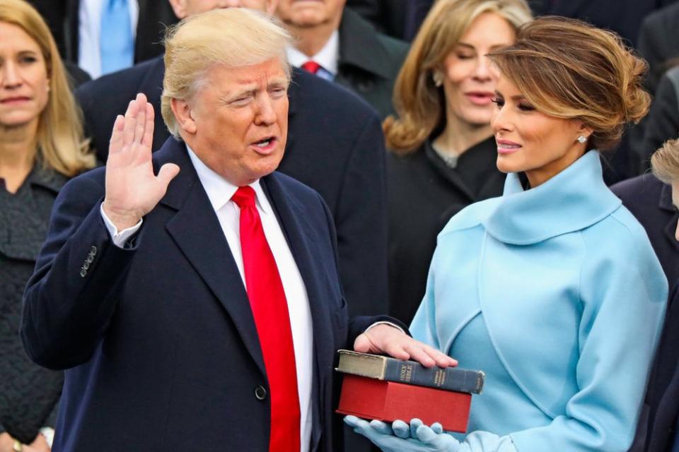
[[269, 452], [299, 452], [300, 409], [288, 303], [274, 255], [255, 206], [255, 190], [241, 186], [231, 198], [240, 208], [245, 288], [255, 317], [271, 397]]

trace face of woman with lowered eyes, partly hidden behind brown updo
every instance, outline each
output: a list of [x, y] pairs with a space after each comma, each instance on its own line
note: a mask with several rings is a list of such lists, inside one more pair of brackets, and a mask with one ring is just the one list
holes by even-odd
[[483, 13], [471, 23], [443, 61], [449, 120], [473, 125], [490, 122], [497, 77], [489, 68], [486, 54], [515, 39], [512, 25], [497, 13]]

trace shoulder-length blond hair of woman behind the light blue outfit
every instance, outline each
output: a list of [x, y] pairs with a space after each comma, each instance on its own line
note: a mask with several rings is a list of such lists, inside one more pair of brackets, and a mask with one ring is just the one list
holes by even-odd
[[438, 0], [427, 14], [396, 78], [393, 103], [398, 119], [385, 119], [387, 147], [409, 153], [445, 120], [443, 88], [432, 79], [472, 22], [483, 13], [497, 13], [513, 28], [533, 18], [524, 0]]

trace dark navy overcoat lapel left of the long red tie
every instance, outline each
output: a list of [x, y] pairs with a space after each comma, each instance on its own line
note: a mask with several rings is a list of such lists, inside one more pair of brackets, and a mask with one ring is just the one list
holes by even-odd
[[181, 168], [161, 200], [164, 206], [178, 210], [167, 222], [168, 233], [231, 316], [245, 347], [266, 375], [248, 294], [185, 145], [169, 138], [156, 156], [158, 167], [174, 162]]

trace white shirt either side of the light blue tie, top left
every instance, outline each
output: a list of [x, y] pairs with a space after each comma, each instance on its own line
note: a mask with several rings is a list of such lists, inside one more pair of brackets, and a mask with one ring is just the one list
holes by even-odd
[[[78, 11], [78, 66], [87, 71], [92, 78], [101, 76], [101, 54], [99, 52], [99, 30], [101, 11], [107, 0], [80, 0]], [[137, 35], [139, 2], [128, 0], [129, 23], [132, 36]]]

